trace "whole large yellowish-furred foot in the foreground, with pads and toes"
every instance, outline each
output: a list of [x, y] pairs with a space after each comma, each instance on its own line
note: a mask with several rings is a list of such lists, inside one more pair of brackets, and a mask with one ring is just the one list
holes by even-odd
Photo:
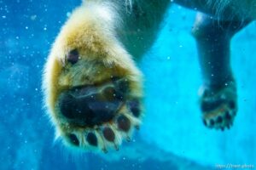
[[79, 150], [119, 150], [142, 118], [142, 74], [96, 10], [69, 17], [44, 67], [56, 139]]

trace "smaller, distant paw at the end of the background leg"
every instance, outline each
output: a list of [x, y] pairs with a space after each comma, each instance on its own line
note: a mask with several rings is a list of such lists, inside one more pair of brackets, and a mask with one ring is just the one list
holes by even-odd
[[205, 126], [215, 129], [230, 128], [237, 112], [236, 83], [227, 82], [223, 88], [202, 87], [201, 112]]

